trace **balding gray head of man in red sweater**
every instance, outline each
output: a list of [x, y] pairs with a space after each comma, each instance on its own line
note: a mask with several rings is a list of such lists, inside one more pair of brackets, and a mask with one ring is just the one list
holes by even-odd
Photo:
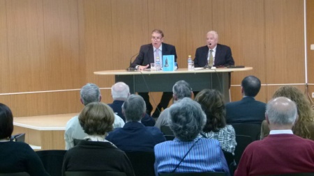
[[294, 125], [297, 120], [297, 105], [287, 97], [277, 97], [267, 103], [266, 115], [270, 124]]

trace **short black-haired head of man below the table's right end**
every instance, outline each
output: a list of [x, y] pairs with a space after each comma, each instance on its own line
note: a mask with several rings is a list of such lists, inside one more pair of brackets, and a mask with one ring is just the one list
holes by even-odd
[[244, 95], [249, 97], [255, 97], [257, 93], [260, 92], [260, 79], [254, 77], [253, 75], [250, 75], [242, 80], [241, 86], [244, 89]]

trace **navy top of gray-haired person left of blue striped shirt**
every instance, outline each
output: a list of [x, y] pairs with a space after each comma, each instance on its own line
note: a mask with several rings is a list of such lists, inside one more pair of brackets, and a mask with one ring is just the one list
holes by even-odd
[[165, 136], [156, 127], [145, 127], [140, 122], [126, 122], [123, 128], [111, 131], [106, 139], [124, 151], [154, 152], [155, 145], [164, 142]]

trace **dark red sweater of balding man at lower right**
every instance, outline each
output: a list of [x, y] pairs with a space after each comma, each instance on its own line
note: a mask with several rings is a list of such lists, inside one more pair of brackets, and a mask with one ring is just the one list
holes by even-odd
[[314, 172], [314, 141], [272, 134], [246, 147], [234, 176]]

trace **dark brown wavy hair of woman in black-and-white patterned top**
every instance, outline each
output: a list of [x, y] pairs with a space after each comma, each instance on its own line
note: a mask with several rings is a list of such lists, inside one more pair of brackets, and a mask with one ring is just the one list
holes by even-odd
[[207, 117], [204, 132], [218, 132], [225, 127], [225, 103], [223, 95], [218, 90], [204, 89], [197, 93], [195, 101], [202, 106]]

